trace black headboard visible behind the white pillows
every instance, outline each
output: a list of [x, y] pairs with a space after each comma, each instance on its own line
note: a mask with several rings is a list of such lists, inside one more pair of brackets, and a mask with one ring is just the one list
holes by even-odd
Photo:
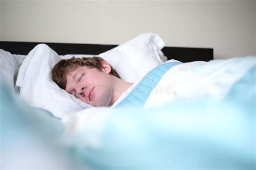
[[[93, 54], [97, 55], [108, 51], [117, 45], [101, 44], [68, 44], [52, 42], [14, 42], [0, 41], [0, 48], [12, 54], [27, 55], [37, 44], [47, 44], [59, 55], [65, 54]], [[167, 58], [181, 62], [210, 61], [213, 60], [213, 48], [187, 48], [187, 47], [164, 47], [163, 53]]]

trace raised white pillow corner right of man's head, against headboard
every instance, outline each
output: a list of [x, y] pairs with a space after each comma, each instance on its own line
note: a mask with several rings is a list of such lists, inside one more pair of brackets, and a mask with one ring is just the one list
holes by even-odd
[[134, 83], [167, 60], [161, 52], [164, 46], [157, 34], [144, 33], [99, 56], [116, 69], [121, 79]]

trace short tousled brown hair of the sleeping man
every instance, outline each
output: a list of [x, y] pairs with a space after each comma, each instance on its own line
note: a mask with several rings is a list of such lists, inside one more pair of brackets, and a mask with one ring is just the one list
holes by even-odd
[[[78, 67], [87, 66], [89, 68], [97, 68], [102, 70], [102, 62], [103, 58], [98, 56], [93, 57], [83, 57], [75, 58], [74, 56], [68, 60], [60, 60], [53, 68], [52, 68], [52, 80], [58, 84], [58, 86], [62, 89], [66, 88], [66, 75], [68, 75], [73, 70]], [[111, 66], [110, 66], [111, 67]], [[116, 76], [120, 79], [120, 76], [117, 74], [116, 70], [111, 67], [111, 72], [109, 73], [113, 76]]]

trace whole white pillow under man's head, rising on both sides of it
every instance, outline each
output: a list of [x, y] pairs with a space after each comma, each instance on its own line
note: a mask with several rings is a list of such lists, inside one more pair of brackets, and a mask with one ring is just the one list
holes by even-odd
[[[157, 34], [145, 33], [99, 56], [109, 62], [124, 81], [136, 82], [166, 60], [161, 52], [163, 47], [164, 42]], [[68, 112], [92, 107], [60, 89], [52, 81], [52, 67], [62, 58], [72, 56], [93, 55], [69, 54], [60, 57], [47, 45], [37, 45], [19, 69], [16, 86], [21, 87], [20, 96], [33, 107], [49, 110], [60, 118]]]

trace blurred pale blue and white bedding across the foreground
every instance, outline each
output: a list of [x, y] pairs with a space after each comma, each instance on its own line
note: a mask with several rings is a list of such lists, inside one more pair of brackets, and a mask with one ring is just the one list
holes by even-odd
[[1, 82], [1, 169], [255, 169], [255, 73], [222, 101], [90, 108], [62, 120]]

